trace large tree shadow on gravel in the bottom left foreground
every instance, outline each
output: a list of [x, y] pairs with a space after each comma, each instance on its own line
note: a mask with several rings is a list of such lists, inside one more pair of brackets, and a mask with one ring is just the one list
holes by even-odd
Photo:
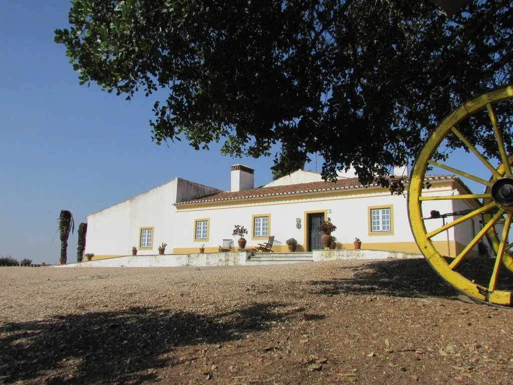
[[151, 381], [151, 374], [138, 373], [180, 364], [173, 355], [175, 347], [237, 340], [302, 311], [285, 312], [284, 306], [258, 303], [215, 315], [130, 307], [0, 323], [0, 383]]

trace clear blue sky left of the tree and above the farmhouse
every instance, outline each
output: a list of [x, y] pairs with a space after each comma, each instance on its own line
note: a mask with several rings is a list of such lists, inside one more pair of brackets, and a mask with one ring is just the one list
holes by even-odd
[[[65, 47], [53, 42], [54, 29], [68, 26], [70, 7], [69, 0], [0, 6], [0, 256], [58, 263], [61, 209], [78, 225], [175, 177], [229, 189], [229, 167], [241, 162], [255, 169], [255, 185], [271, 180], [272, 158], [235, 160], [219, 146], [195, 151], [185, 142], [155, 145], [152, 101], [143, 94], [127, 102], [79, 86]], [[75, 256], [76, 232], [68, 261]]]

